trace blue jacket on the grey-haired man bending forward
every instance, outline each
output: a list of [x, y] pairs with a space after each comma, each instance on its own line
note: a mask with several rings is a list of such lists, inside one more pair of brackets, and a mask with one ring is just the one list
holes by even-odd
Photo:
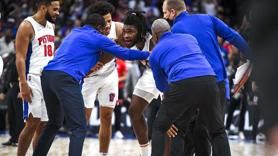
[[213, 75], [208, 61], [200, 50], [197, 40], [189, 34], [165, 32], [150, 54], [156, 88], [167, 92], [168, 82]]

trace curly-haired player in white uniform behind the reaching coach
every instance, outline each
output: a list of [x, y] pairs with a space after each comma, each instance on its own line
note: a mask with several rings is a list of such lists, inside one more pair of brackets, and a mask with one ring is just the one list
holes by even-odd
[[[87, 15], [100, 14], [105, 19], [105, 34], [109, 39], [116, 39], [123, 29], [123, 24], [113, 22], [111, 14], [115, 7], [106, 1], [95, 2], [89, 6]], [[83, 83], [83, 84], [82, 84]], [[112, 133], [112, 114], [118, 100], [118, 72], [115, 56], [102, 53], [99, 62], [86, 74], [81, 84], [88, 125], [95, 99], [98, 95], [100, 106], [99, 155], [108, 155]]]

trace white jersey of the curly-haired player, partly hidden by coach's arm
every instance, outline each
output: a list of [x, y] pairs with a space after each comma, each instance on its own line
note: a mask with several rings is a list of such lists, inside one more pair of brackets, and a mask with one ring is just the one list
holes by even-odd
[[[116, 39], [117, 38], [117, 36], [116, 36], [116, 24], [113, 21], [112, 21], [112, 24], [111, 24], [110, 33], [107, 35], [107, 37], [109, 39], [111, 39], [111, 38]], [[98, 71], [93, 72], [92, 74], [90, 74], [90, 76], [110, 72], [114, 69], [116, 69], [116, 58], [111, 60], [107, 64], [105, 64], [105, 66], [103, 66], [103, 68], [101, 68]]]

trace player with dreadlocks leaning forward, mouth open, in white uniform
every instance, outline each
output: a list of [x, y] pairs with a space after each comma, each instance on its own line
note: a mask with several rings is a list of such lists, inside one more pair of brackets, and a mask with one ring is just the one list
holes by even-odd
[[[140, 51], [151, 51], [156, 43], [152, 37], [151, 29], [148, 27], [146, 18], [138, 9], [129, 10], [125, 13], [123, 37], [126, 46], [130, 49]], [[122, 40], [119, 37], [119, 41]], [[142, 61], [148, 65], [148, 61]], [[142, 156], [151, 154], [148, 140], [148, 125], [143, 114], [149, 103], [161, 94], [155, 86], [152, 70], [148, 68], [135, 86], [128, 114], [139, 145]]]

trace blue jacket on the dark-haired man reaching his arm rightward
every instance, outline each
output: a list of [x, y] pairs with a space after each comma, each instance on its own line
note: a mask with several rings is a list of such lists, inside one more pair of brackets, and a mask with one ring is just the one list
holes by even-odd
[[118, 46], [90, 26], [72, 29], [59, 47], [53, 60], [43, 70], [58, 70], [73, 76], [78, 82], [99, 61], [101, 51], [123, 60], [146, 60], [148, 51]]

